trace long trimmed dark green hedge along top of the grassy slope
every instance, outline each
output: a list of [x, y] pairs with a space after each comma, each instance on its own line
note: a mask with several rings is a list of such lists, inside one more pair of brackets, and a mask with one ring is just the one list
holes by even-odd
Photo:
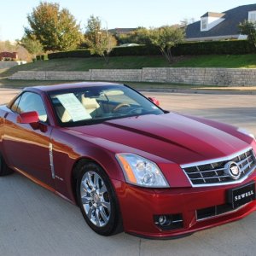
[[[178, 44], [172, 48], [172, 55], [242, 55], [255, 53], [253, 44], [247, 40], [233, 41], [211, 41]], [[110, 56], [126, 55], [161, 55], [160, 49], [154, 45], [139, 45], [131, 47], [115, 47], [110, 52]], [[49, 60], [60, 58], [88, 58], [96, 55], [90, 55], [90, 49], [76, 49], [51, 53]], [[37, 56], [37, 59], [41, 59]]]

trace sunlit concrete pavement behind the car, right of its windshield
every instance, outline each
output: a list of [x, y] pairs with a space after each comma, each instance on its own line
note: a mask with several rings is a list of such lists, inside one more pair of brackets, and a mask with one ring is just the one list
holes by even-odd
[[215, 119], [246, 128], [256, 136], [256, 96], [216, 94], [172, 94], [145, 92], [160, 100], [160, 107], [170, 111], [188, 113]]

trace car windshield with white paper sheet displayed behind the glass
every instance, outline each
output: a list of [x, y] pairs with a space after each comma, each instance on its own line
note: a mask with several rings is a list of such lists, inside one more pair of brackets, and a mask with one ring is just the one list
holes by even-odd
[[61, 125], [90, 125], [107, 119], [164, 113], [135, 90], [104, 85], [54, 91], [49, 94]]

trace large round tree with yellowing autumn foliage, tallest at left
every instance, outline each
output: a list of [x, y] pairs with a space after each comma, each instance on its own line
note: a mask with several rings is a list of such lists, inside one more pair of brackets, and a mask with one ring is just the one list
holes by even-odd
[[75, 49], [80, 43], [80, 26], [58, 3], [41, 2], [27, 20], [30, 27], [25, 28], [26, 37], [38, 40], [44, 50]]

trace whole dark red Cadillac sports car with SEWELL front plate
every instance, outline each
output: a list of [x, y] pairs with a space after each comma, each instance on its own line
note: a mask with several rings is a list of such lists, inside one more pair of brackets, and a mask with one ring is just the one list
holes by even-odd
[[92, 230], [183, 236], [255, 211], [253, 135], [172, 113], [124, 84], [24, 89], [0, 107], [0, 176], [78, 204]]

